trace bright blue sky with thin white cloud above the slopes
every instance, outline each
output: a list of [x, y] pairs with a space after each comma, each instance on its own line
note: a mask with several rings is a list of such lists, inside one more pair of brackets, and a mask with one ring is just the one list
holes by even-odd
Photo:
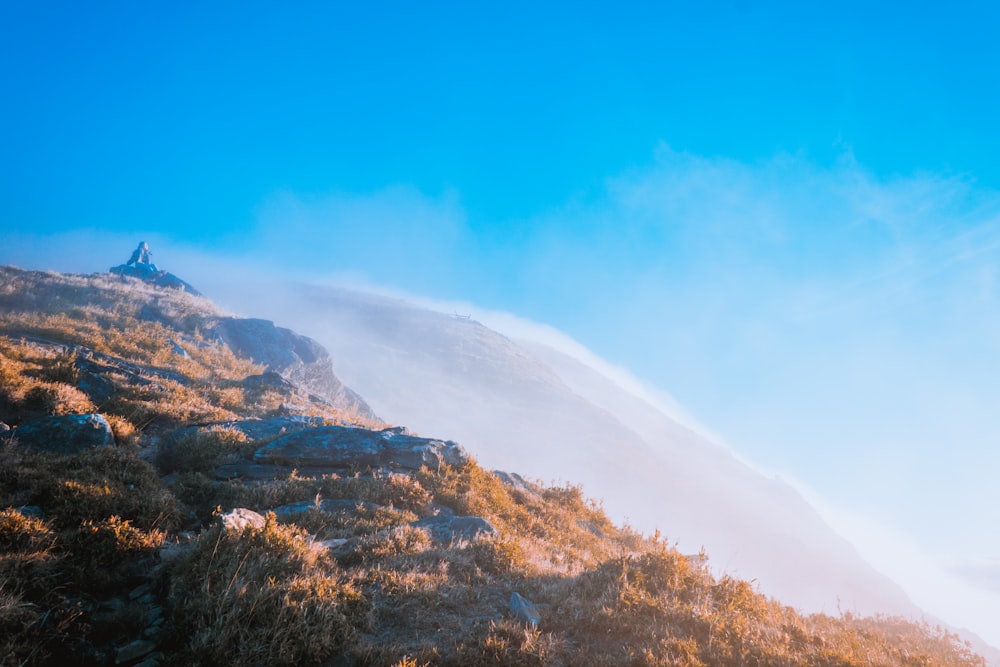
[[1000, 590], [998, 10], [537, 5], [5, 3], [0, 261], [545, 322]]

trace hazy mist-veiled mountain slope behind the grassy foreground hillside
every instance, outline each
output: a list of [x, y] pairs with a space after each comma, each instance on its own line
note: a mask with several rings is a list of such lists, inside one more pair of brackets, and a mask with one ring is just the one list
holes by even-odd
[[320, 340], [385, 418], [448, 433], [488, 467], [581, 483], [617, 519], [809, 610], [915, 614], [792, 488], [552, 350], [461, 315], [296, 286], [269, 316]]

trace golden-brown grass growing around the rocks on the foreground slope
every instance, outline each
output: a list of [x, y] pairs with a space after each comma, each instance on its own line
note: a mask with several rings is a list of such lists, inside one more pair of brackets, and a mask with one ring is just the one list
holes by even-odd
[[[514, 489], [475, 461], [219, 481], [215, 467], [262, 443], [202, 428], [163, 449], [158, 471], [146, 459], [174, 429], [273, 415], [289, 399], [243, 386], [261, 369], [204, 339], [213, 313], [137, 281], [0, 268], [0, 334], [13, 336], [0, 335], [0, 420], [99, 411], [118, 443], [74, 456], [0, 445], [3, 664], [71, 662], [93, 639], [84, 602], [120, 589], [126, 572], [152, 576], [158, 550], [192, 528], [191, 545], [176, 547], [184, 555], [155, 570], [169, 590], [168, 664], [330, 664], [340, 654], [392, 667], [985, 664], [939, 628], [799, 614], [659, 536], [613, 525], [579, 487]], [[111, 397], [101, 405], [80, 390], [74, 345], [118, 360], [102, 376]], [[301, 404], [331, 423], [384, 426]], [[330, 514], [324, 499], [357, 505]], [[205, 528], [217, 507], [301, 501], [314, 505], [287, 524], [272, 515], [260, 529]], [[29, 504], [45, 518], [13, 509]], [[483, 517], [498, 535], [442, 544], [414, 525], [440, 506]], [[331, 538], [348, 542], [331, 552], [316, 541]], [[506, 613], [515, 591], [538, 606], [537, 628]]]

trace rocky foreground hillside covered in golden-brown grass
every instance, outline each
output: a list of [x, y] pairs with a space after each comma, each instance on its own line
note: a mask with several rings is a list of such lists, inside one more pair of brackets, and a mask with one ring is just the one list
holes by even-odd
[[332, 368], [184, 292], [0, 269], [0, 663], [984, 664], [716, 576]]

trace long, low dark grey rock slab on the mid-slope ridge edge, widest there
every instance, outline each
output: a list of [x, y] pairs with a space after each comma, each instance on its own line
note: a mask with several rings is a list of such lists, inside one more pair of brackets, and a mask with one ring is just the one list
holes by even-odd
[[419, 438], [392, 428], [370, 431], [348, 426], [322, 426], [278, 438], [254, 454], [254, 462], [334, 469], [389, 467], [432, 470], [461, 465], [468, 455], [454, 442]]

